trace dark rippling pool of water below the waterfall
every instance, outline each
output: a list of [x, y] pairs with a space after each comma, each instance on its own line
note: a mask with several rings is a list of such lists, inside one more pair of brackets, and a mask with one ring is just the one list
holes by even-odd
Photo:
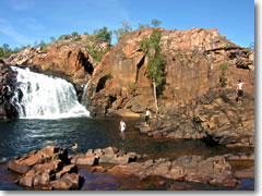
[[[0, 122], [0, 160], [11, 159], [22, 154], [27, 154], [31, 150], [38, 150], [48, 145], [70, 148], [75, 143], [79, 144], [78, 152], [86, 152], [91, 148], [96, 149], [115, 146], [126, 151], [135, 151], [141, 155], [146, 154], [148, 158], [177, 158], [192, 155], [213, 157], [225, 154], [251, 154], [253, 151], [253, 149], [248, 148], [228, 149], [224, 146], [211, 147], [202, 140], [154, 139], [141, 135], [139, 131], [134, 128], [136, 123], [143, 121], [142, 119], [123, 119], [128, 128], [121, 134], [118, 130], [120, 120], [121, 119], [118, 118], [71, 118], [58, 120], [21, 119]], [[72, 151], [69, 152], [72, 154]], [[5, 175], [9, 179], [13, 179], [12, 172], [5, 169], [5, 166], [1, 164], [0, 179], [2, 180], [0, 180], [0, 189], [21, 189], [20, 186], [12, 183], [3, 183]], [[131, 184], [127, 185], [128, 182], [124, 186], [119, 180], [107, 174], [95, 176], [86, 173], [87, 171], [82, 170], [82, 172], [93, 181], [92, 187], [90, 187], [92, 185], [92, 183], [90, 183], [90, 189], [99, 189], [99, 187], [100, 189], [132, 188]], [[98, 183], [99, 185], [95, 183], [106, 180], [110, 182], [108, 186], [106, 183]], [[84, 187], [86, 186], [85, 184]], [[141, 189], [143, 188], [152, 189], [153, 187], [141, 187]]]

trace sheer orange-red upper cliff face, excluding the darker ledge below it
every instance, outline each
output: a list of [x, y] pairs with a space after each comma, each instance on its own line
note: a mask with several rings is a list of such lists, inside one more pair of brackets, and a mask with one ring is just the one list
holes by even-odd
[[[146, 74], [148, 60], [140, 48], [141, 40], [150, 37], [153, 29], [144, 28], [122, 37], [95, 69], [88, 96], [90, 105], [102, 103], [96, 108], [97, 114], [109, 113], [112, 107], [133, 112], [143, 112], [146, 108], [154, 110], [151, 81]], [[254, 96], [252, 51], [230, 42], [215, 28], [158, 29], [166, 57], [166, 85], [159, 102], [188, 103], [210, 89], [218, 89], [219, 64], [224, 62], [228, 66], [226, 88], [236, 89], [237, 81], [241, 78], [246, 83], [245, 91]]]

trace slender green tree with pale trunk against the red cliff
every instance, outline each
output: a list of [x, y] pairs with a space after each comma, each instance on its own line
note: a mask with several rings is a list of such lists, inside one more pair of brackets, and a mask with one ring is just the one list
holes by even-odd
[[162, 32], [159, 29], [154, 29], [150, 38], [144, 38], [141, 42], [141, 49], [150, 60], [146, 68], [154, 88], [156, 114], [158, 112], [157, 95], [162, 93], [163, 86], [166, 82], [165, 79], [166, 59], [160, 53], [162, 51], [160, 37]]

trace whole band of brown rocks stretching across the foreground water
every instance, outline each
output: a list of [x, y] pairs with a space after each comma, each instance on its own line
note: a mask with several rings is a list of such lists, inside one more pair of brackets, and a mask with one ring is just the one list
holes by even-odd
[[[160, 176], [178, 182], [236, 187], [242, 177], [254, 177], [254, 168], [234, 172], [228, 161], [236, 159], [253, 160], [253, 157], [225, 155], [148, 159], [146, 155], [124, 152], [115, 147], [88, 149], [86, 154], [69, 156], [66, 148], [46, 146], [10, 160], [8, 169], [16, 173], [15, 183], [34, 189], [81, 189], [85, 182], [84, 176], [79, 174], [81, 166], [91, 167], [92, 172], [134, 176], [141, 182], [151, 176]], [[110, 167], [103, 163], [110, 163]]]

